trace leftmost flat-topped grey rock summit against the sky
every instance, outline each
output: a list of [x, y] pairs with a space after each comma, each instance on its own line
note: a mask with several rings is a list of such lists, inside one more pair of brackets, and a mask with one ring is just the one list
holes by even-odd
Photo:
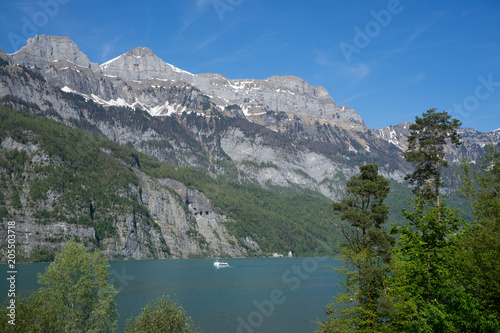
[[46, 61], [68, 61], [77, 66], [90, 68], [89, 58], [67, 36], [37, 35], [28, 39], [26, 46], [12, 54], [15, 63], [45, 67]]

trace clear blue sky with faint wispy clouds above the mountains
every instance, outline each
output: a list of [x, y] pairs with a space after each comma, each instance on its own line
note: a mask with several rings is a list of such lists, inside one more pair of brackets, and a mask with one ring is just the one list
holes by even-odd
[[0, 47], [65, 35], [92, 62], [138, 46], [192, 73], [295, 75], [371, 128], [446, 110], [500, 128], [500, 1], [2, 1]]

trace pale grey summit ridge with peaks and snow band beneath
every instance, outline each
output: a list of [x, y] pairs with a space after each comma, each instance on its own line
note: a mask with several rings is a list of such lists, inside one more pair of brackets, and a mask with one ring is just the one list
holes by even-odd
[[[158, 85], [168, 87], [174, 84], [196, 88], [220, 110], [229, 106], [234, 109], [236, 105], [239, 109], [236, 114], [264, 126], [273, 123], [270, 128], [275, 131], [289, 126], [284, 123], [278, 126], [270, 121], [268, 112], [280, 114], [282, 122], [298, 117], [307, 123], [329, 123], [362, 131], [368, 128], [354, 110], [337, 106], [325, 88], [310, 85], [296, 76], [232, 80], [220, 74], [191, 74], [163, 61], [147, 47], [134, 48], [99, 66], [90, 63], [68, 37], [40, 35], [29, 39], [25, 47], [10, 56], [10, 61], [36, 66], [60, 88], [71, 89], [97, 103], [141, 105], [158, 116], [180, 112], [186, 105], [180, 105], [169, 94], [157, 92], [153, 96], [145, 91]], [[91, 71], [78, 68], [82, 66]], [[123, 90], [122, 84], [133, 88]], [[173, 104], [179, 106], [174, 108], [177, 111], [172, 109]], [[164, 111], [157, 112], [160, 109]]]

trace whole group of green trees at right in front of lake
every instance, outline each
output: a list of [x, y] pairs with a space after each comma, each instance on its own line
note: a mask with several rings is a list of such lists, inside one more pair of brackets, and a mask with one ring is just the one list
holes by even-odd
[[[410, 127], [405, 158], [415, 185], [404, 226], [387, 234], [386, 185], [376, 166], [348, 182], [348, 197], [332, 208], [359, 232], [344, 231], [344, 290], [333, 298], [318, 332], [500, 331], [500, 150], [478, 165], [463, 162], [462, 193], [474, 219], [440, 194], [444, 146], [460, 144], [460, 123], [428, 110]], [[371, 168], [369, 172], [367, 168]]]

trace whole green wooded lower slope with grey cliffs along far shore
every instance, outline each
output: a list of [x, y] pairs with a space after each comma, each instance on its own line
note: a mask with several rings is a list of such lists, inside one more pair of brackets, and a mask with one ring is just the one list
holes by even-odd
[[[278, 195], [176, 170], [28, 113], [2, 108], [0, 119], [0, 218], [17, 221], [26, 257], [73, 237], [111, 259], [247, 256], [261, 244], [264, 253], [335, 251], [335, 228], [317, 223], [334, 218], [329, 200], [317, 193]], [[4, 223], [0, 239], [6, 233]]]

